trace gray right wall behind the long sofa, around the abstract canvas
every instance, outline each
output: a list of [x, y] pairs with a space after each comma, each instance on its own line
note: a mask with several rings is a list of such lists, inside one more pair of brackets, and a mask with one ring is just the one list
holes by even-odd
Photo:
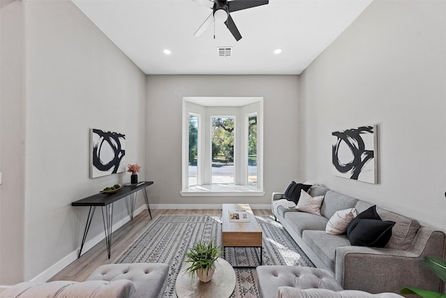
[[[374, 1], [300, 75], [301, 177], [446, 231], [445, 1]], [[379, 184], [331, 174], [331, 133], [378, 124]]]

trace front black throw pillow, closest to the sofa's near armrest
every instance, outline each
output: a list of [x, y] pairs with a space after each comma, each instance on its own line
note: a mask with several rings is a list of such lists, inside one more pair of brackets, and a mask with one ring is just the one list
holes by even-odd
[[384, 247], [392, 237], [394, 221], [359, 218], [351, 227], [348, 240], [354, 246]]

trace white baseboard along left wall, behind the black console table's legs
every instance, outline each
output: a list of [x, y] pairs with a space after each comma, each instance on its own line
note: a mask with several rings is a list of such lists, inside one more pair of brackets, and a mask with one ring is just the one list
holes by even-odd
[[[144, 209], [147, 209], [146, 204], [143, 204], [138, 209], [135, 209], [133, 212], [133, 216], [137, 216], [142, 211], [144, 211]], [[114, 223], [113, 227], [112, 227], [112, 232], [118, 230], [118, 228], [121, 228], [128, 221], [130, 221], [130, 215], [125, 216], [124, 218], [121, 219], [121, 221], [117, 221], [116, 223]], [[82, 248], [82, 254], [89, 251], [91, 248], [93, 248], [93, 246], [98, 244], [100, 241], [103, 241], [104, 239], [105, 239], [105, 234], [102, 232], [100, 234], [97, 234], [95, 237], [93, 237], [89, 241], [85, 241], [84, 247]], [[62, 258], [61, 260], [59, 260], [59, 262], [56, 262], [56, 264], [54, 264], [51, 267], [49, 267], [48, 269], [46, 269], [45, 271], [40, 273], [38, 276], [32, 278], [31, 281], [44, 282], [44, 281], [47, 281], [49, 278], [52, 278], [52, 276], [56, 275], [63, 268], [67, 267], [72, 262], [77, 260], [77, 255], [79, 254], [79, 249], [80, 249], [80, 246], [75, 251], [72, 251], [71, 253], [66, 255], [65, 258]], [[1, 288], [1, 285], [0, 285], [0, 288]]]

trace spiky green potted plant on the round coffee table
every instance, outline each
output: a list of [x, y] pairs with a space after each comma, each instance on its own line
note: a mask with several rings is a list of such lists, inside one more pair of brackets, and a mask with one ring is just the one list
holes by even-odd
[[192, 278], [197, 274], [200, 281], [207, 283], [214, 275], [214, 262], [222, 255], [222, 251], [220, 251], [220, 246], [214, 246], [213, 241], [210, 241], [208, 244], [197, 242], [197, 244], [189, 248], [185, 255], [184, 262], [190, 263], [185, 272], [191, 274]]

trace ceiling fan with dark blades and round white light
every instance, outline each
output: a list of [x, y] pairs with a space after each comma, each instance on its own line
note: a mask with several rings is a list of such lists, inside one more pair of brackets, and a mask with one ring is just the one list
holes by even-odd
[[[236, 24], [232, 20], [230, 13], [233, 13], [237, 10], [243, 10], [247, 8], [252, 8], [256, 6], [261, 6], [264, 4], [268, 4], [268, 0], [193, 0], [203, 6], [206, 6], [212, 9], [212, 13], [208, 16], [208, 18], [201, 24], [197, 32], [194, 33], [194, 36], [200, 36], [211, 23], [220, 22], [228, 27], [231, 34], [236, 38], [236, 40], [240, 40], [242, 36], [237, 29]], [[214, 36], [215, 38], [215, 36]]]

